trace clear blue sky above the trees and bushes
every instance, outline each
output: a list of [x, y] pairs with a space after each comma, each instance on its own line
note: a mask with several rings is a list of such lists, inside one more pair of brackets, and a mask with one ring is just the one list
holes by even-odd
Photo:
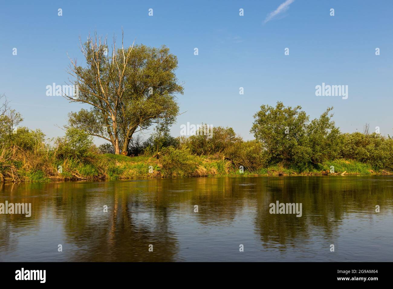
[[[171, 129], [174, 136], [181, 124], [204, 122], [252, 139], [253, 114], [277, 101], [301, 105], [311, 118], [333, 106], [343, 132], [362, 131], [369, 122], [393, 134], [392, 1], [295, 0], [266, 23], [285, 0], [140, 2], [2, 2], [0, 94], [22, 113], [22, 125], [48, 137], [62, 135], [56, 125], [66, 124], [68, 112], [82, 106], [46, 96], [46, 85], [68, 81], [67, 53], [83, 63], [79, 36], [97, 31], [119, 40], [123, 27], [127, 46], [134, 39], [165, 44], [178, 56], [184, 113]], [[348, 85], [348, 99], [316, 96], [315, 86], [323, 82]]]

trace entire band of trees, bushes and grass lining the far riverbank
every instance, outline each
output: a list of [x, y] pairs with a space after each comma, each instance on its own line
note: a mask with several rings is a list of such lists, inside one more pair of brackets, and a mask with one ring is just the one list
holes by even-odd
[[[262, 105], [250, 129], [254, 140], [203, 123], [191, 130], [187, 123], [187, 132], [173, 137], [184, 91], [176, 55], [166, 46], [124, 47], [123, 35], [121, 46], [115, 42], [112, 53], [96, 33], [81, 43], [85, 64], [70, 59], [66, 89], [76, 95], [48, 85], [48, 96], [84, 105], [68, 114], [65, 136], [48, 140], [20, 126], [22, 116], [0, 95], [0, 182], [393, 172], [393, 138], [379, 127], [370, 133], [368, 124], [363, 133], [340, 132], [332, 107], [310, 120], [300, 106]], [[107, 143], [97, 147], [93, 137]]]

